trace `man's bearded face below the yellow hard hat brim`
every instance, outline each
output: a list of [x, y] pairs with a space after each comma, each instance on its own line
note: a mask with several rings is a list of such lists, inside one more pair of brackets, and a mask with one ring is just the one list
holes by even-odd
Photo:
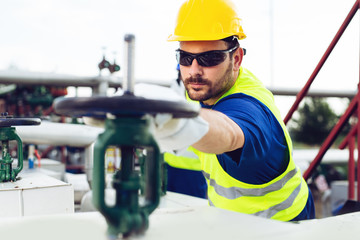
[[[226, 50], [224, 41], [180, 42], [180, 49], [188, 53], [201, 53], [212, 50]], [[180, 64], [182, 81], [192, 100], [213, 105], [234, 84], [238, 71], [226, 53], [226, 59], [212, 67], [200, 66], [196, 59], [190, 66]]]

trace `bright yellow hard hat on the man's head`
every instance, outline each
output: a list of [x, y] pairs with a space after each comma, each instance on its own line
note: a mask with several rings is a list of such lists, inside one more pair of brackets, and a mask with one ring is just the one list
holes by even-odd
[[230, 36], [246, 38], [230, 0], [188, 0], [181, 6], [168, 41], [207, 41]]

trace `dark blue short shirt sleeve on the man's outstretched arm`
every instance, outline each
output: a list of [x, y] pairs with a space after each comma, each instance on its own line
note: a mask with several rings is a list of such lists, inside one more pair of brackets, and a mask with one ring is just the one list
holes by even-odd
[[224, 113], [238, 124], [245, 137], [243, 148], [217, 155], [228, 174], [246, 183], [261, 184], [286, 169], [283, 130], [263, 103], [238, 93], [221, 99], [213, 110]]

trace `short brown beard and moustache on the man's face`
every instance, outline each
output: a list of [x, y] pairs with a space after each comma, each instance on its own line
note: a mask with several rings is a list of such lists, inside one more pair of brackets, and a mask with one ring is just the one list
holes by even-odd
[[[201, 76], [189, 77], [183, 80], [185, 89], [191, 100], [204, 102], [211, 99], [214, 100], [214, 103], [233, 86], [233, 82], [231, 62], [225, 73], [214, 81], [202, 78]], [[194, 88], [191, 84], [200, 84], [200, 87]]]

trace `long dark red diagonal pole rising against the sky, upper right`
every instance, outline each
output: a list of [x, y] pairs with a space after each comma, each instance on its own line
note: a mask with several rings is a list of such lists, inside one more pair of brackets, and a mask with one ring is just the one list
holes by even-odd
[[322, 68], [325, 61], [329, 57], [330, 53], [334, 49], [336, 43], [339, 41], [340, 37], [344, 33], [345, 29], [349, 25], [351, 19], [356, 14], [356, 11], [358, 10], [359, 5], [360, 5], [359, 2], [360, 2], [359, 0], [357, 0], [355, 2], [354, 6], [351, 8], [349, 14], [347, 15], [345, 21], [343, 22], [340, 29], [336, 33], [334, 39], [331, 41], [331, 43], [330, 43], [329, 47], [327, 48], [325, 54], [322, 56], [322, 58], [320, 59], [320, 62], [316, 66], [314, 72], [311, 74], [309, 80], [306, 82], [305, 86], [301, 89], [301, 91], [296, 95], [296, 100], [295, 100], [294, 104], [291, 106], [289, 112], [287, 113], [286, 117], [284, 118], [285, 125], [291, 119], [291, 117], [292, 117], [293, 113], [295, 112], [295, 110], [299, 107], [299, 104], [300, 104], [301, 100], [305, 97], [306, 93], [309, 91], [309, 88], [310, 88], [312, 82], [314, 81], [315, 77], [319, 73], [320, 69]]

